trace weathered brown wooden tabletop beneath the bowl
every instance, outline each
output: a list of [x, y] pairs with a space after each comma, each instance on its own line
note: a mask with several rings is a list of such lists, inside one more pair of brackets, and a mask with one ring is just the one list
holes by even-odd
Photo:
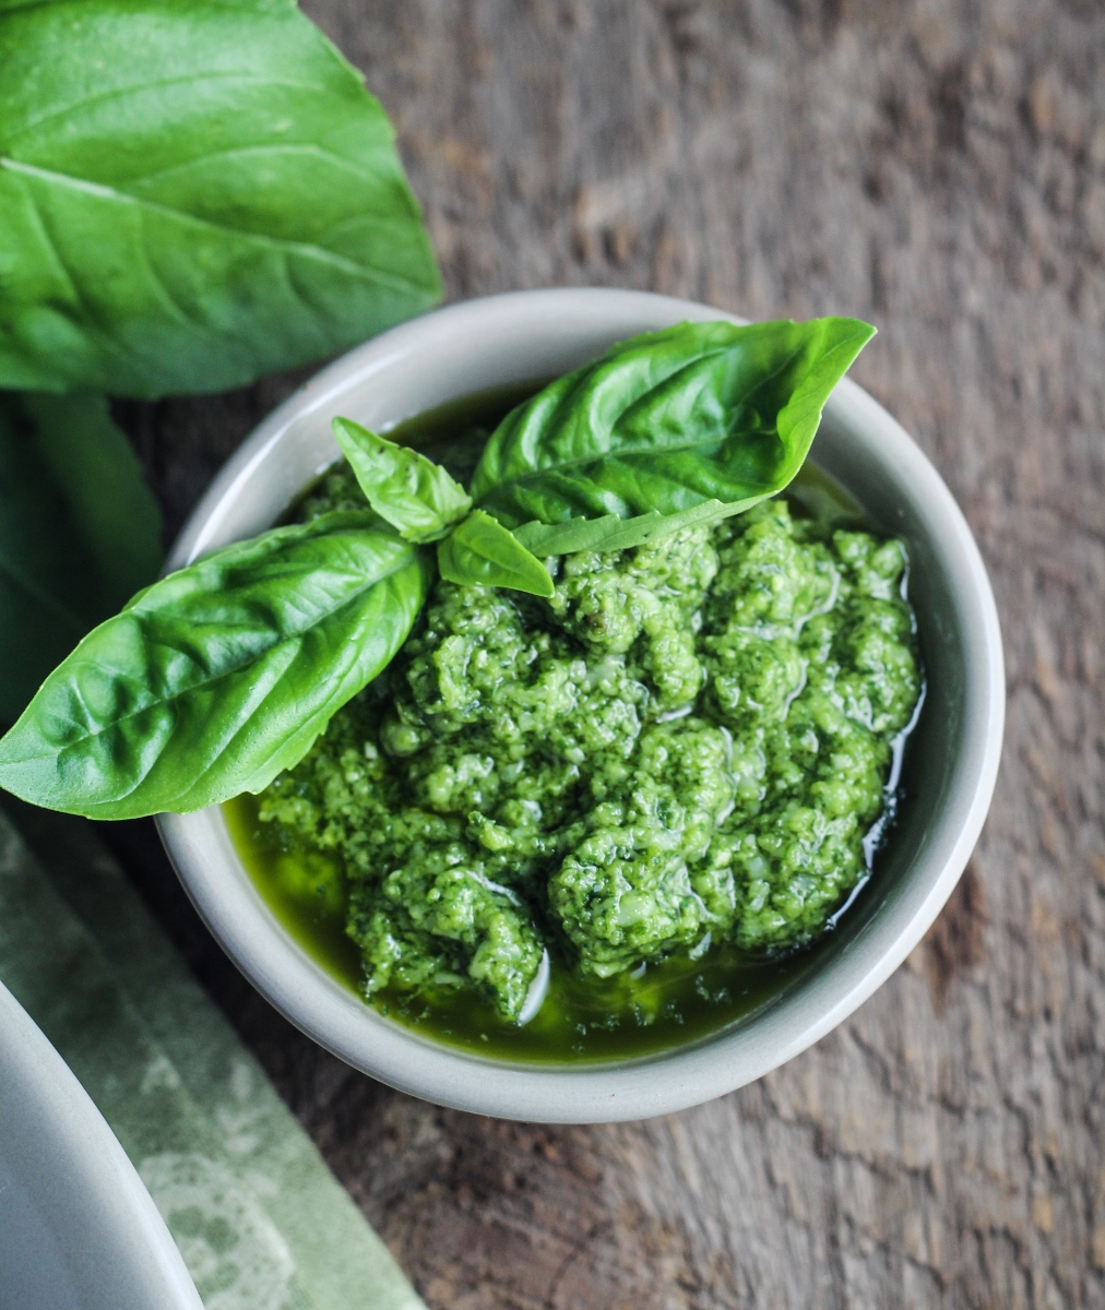
[[[434, 1307], [1105, 1305], [1105, 10], [1097, 0], [311, 0], [452, 299], [598, 283], [847, 313], [998, 593], [971, 865], [836, 1032], [713, 1104], [494, 1123], [351, 1073], [117, 845]], [[173, 524], [296, 379], [134, 406]]]

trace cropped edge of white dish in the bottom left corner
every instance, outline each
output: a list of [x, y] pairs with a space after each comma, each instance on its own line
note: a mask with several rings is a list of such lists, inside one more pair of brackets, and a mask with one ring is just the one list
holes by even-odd
[[118, 1138], [3, 985], [0, 1306], [203, 1310]]

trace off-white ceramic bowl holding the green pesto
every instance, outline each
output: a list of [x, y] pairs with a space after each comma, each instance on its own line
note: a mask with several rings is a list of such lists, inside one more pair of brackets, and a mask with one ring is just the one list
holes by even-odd
[[[461, 396], [564, 373], [634, 333], [722, 317], [730, 316], [665, 296], [561, 290], [472, 300], [395, 328], [322, 369], [257, 428], [189, 520], [170, 567], [271, 525], [337, 457], [337, 414], [379, 431]], [[480, 1058], [381, 1018], [315, 964], [254, 889], [218, 808], [161, 816], [197, 909], [278, 1010], [342, 1060], [427, 1100], [509, 1119], [598, 1123], [680, 1110], [759, 1078], [898, 968], [956, 886], [990, 806], [1005, 703], [998, 613], [946, 486], [853, 383], [828, 401], [813, 458], [877, 524], [908, 540], [929, 688], [911, 748], [916, 795], [877, 879], [815, 967], [756, 1015], [695, 1045], [582, 1068]]]

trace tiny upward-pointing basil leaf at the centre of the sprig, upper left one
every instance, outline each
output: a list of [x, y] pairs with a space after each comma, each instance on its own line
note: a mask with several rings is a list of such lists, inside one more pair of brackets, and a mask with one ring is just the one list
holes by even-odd
[[464, 487], [425, 455], [349, 418], [336, 418], [333, 428], [368, 504], [404, 540], [438, 541], [472, 508]]

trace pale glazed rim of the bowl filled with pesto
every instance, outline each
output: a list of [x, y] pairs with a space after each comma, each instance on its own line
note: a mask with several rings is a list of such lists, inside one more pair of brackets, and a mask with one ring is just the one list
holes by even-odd
[[[433, 358], [436, 345], [457, 339], [480, 343], [495, 335], [503, 339], [507, 330], [511, 341], [514, 334], [524, 341], [526, 331], [539, 333], [545, 325], [570, 325], [575, 320], [579, 331], [594, 334], [595, 324], [607, 321], [640, 320], [641, 326], [633, 330], [649, 330], [661, 322], [722, 318], [735, 324], [747, 321], [697, 301], [650, 292], [556, 288], [465, 300], [410, 320], [322, 368], [257, 426], [193, 511], [166, 570], [181, 567], [228, 540], [219, 536], [225, 516], [248, 495], [257, 470], [275, 457], [292, 424], [320, 411], [334, 411], [354, 385], [396, 364], [419, 355]], [[519, 373], [518, 380], [524, 376]], [[480, 389], [472, 385], [467, 394]], [[422, 406], [429, 407], [433, 406]], [[894, 904], [880, 908], [849, 950], [827, 958], [809, 985], [769, 1003], [735, 1028], [624, 1062], [578, 1068], [505, 1064], [402, 1028], [326, 975], [253, 888], [218, 807], [191, 815], [160, 815], [157, 827], [169, 858], [207, 927], [291, 1023], [354, 1068], [442, 1106], [528, 1121], [604, 1123], [683, 1110], [752, 1082], [836, 1027], [902, 964], [956, 887], [990, 807], [1005, 711], [1001, 634], [994, 593], [970, 528], [914, 440], [848, 379], [838, 385], [824, 414], [826, 421], [842, 424], [865, 441], [873, 460], [887, 468], [893, 465], [901, 478], [908, 479], [906, 485], [915, 504], [924, 506], [927, 516], [939, 520], [940, 532], [933, 541], [950, 578], [965, 646], [962, 740], [966, 745], [937, 811], [936, 836]], [[405, 417], [397, 414], [396, 421]], [[283, 508], [275, 510], [269, 521]], [[237, 876], [228, 878], [227, 872]]]

